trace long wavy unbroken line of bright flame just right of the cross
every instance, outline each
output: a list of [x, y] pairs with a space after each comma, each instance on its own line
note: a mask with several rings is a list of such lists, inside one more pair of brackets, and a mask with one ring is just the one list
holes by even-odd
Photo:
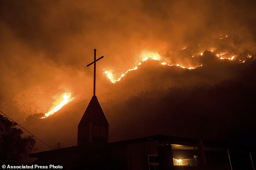
[[145, 62], [145, 61], [147, 61], [149, 59], [150, 60], [157, 60], [162, 65], [178, 66], [178, 67], [186, 68], [186, 69], [195, 69], [195, 68], [197, 68], [199, 66], [202, 66], [202, 65], [199, 65], [199, 66], [191, 67], [191, 66], [182, 66], [180, 64], [170, 64], [170, 62], [168, 62], [168, 60], [164, 60], [157, 52], [142, 52], [141, 53], [141, 58], [142, 58], [141, 61], [136, 63], [134, 68], [128, 69], [120, 77], [117, 77], [116, 75], [114, 75], [113, 70], [105, 70], [104, 73], [107, 76], [107, 79], [109, 79], [112, 83], [116, 83], [116, 82], [120, 81], [122, 79], [122, 77], [124, 77], [129, 71], [138, 69], [139, 65], [141, 65], [143, 62]]

